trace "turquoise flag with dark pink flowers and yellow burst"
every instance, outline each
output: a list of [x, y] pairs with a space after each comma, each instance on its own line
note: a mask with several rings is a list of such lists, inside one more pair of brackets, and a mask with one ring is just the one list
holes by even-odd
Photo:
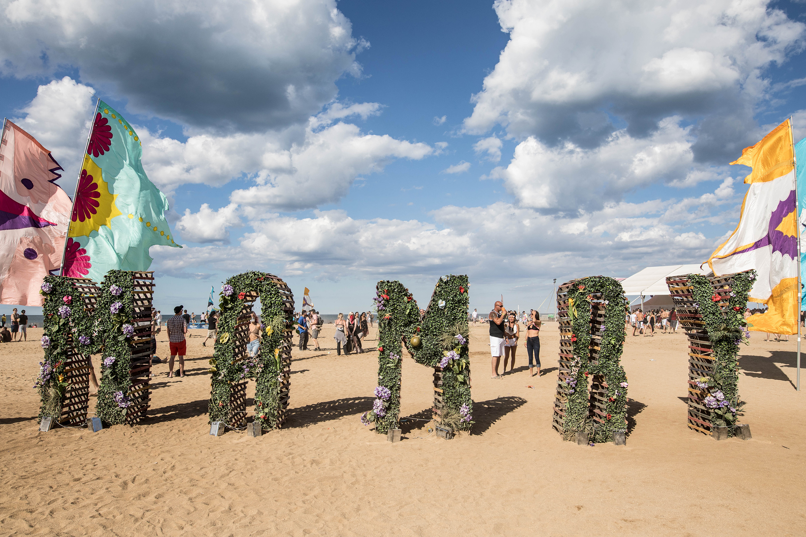
[[73, 200], [66, 276], [100, 282], [107, 271], [145, 271], [151, 246], [177, 246], [165, 220], [168, 200], [146, 176], [140, 138], [98, 99]]

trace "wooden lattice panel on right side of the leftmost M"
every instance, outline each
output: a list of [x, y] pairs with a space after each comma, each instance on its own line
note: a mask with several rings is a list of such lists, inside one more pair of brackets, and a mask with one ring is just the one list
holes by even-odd
[[126, 409], [126, 423], [135, 425], [146, 417], [151, 402], [149, 382], [151, 377], [151, 320], [154, 298], [154, 273], [132, 272], [132, 299], [134, 301], [135, 335], [131, 337], [131, 386], [127, 395], [131, 405]]

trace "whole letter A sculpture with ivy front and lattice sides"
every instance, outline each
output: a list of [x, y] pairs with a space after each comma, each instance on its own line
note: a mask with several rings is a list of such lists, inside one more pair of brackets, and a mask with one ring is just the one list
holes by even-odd
[[[210, 422], [245, 428], [247, 381], [256, 379], [255, 422], [278, 429], [285, 422], [291, 390], [294, 299], [285, 282], [264, 272], [226, 280], [220, 293], [218, 338], [210, 360]], [[260, 297], [261, 337], [256, 357], [247, 356], [252, 303]]]

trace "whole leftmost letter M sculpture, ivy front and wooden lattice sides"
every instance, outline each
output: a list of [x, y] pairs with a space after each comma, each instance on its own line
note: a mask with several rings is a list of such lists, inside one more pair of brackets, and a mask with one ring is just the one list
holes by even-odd
[[86, 278], [45, 277], [45, 356], [35, 386], [40, 419], [85, 422], [89, 355], [96, 353], [102, 353], [98, 417], [135, 425], [146, 415], [153, 292], [153, 272], [109, 271], [101, 286]]

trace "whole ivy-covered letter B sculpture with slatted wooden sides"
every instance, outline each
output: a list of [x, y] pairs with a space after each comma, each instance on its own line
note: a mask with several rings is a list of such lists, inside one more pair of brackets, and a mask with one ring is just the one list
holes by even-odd
[[[559, 382], [551, 426], [564, 440], [579, 435], [621, 443], [624, 438], [627, 377], [619, 365], [625, 338], [623, 293], [620, 283], [605, 276], [573, 279], [557, 289]], [[614, 433], [620, 434], [614, 438]]]

